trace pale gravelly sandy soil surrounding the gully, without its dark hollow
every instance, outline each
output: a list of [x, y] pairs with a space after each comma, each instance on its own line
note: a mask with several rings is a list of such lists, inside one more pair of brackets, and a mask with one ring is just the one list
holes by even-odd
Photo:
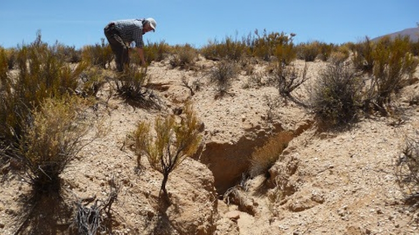
[[[404, 88], [397, 99], [404, 110], [401, 114], [365, 118], [345, 132], [319, 133], [309, 110], [289, 100], [281, 100], [267, 122], [269, 109], [263, 97], [275, 97], [278, 91], [269, 86], [247, 87], [250, 76], [244, 72], [227, 95], [218, 97], [206, 73], [214, 63], [201, 59], [195, 70], [172, 69], [168, 61], [153, 63], [148, 74], [160, 109], [131, 105], [117, 95], [105, 105], [107, 93], [100, 92], [98, 113], [109, 132], [86, 146], [65, 169], [61, 198], [31, 203], [29, 186], [9, 166], [3, 167], [0, 234], [15, 234], [19, 228], [21, 234], [75, 233], [71, 229], [74, 203], [93, 196], [105, 201], [112, 178], [121, 185], [112, 205], [112, 234], [419, 234], [418, 214], [403, 205], [394, 175], [406, 136], [419, 127], [419, 107], [409, 105], [410, 97], [418, 93], [418, 83]], [[310, 80], [293, 96], [305, 102], [305, 87], [325, 65], [308, 63]], [[256, 71], [264, 67], [258, 64]], [[200, 89], [192, 95], [182, 78], [197, 82]], [[127, 134], [138, 121], [173, 113], [187, 99], [204, 124], [204, 149], [209, 143], [239, 145], [243, 137], [261, 142], [272, 125], [279, 125], [281, 131], [301, 130], [270, 169], [271, 178], [260, 175], [247, 180], [247, 190], [240, 191], [245, 209], [220, 200], [215, 186], [223, 179], [211, 170], [227, 168], [215, 169], [199, 157], [187, 159], [167, 185], [172, 205], [162, 206], [158, 197], [162, 175], [145, 157], [137, 165], [125, 141]], [[263, 137], [261, 130], [268, 130]], [[217, 151], [222, 155], [222, 149]], [[272, 195], [281, 191], [285, 196], [273, 200]]]

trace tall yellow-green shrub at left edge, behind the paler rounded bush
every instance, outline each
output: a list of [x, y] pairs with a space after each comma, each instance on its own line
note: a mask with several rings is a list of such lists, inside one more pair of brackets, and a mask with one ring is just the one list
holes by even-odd
[[86, 69], [84, 63], [70, 67], [60, 60], [55, 51], [41, 41], [39, 32], [33, 43], [20, 46], [16, 54], [19, 73], [12, 76], [7, 64], [1, 63], [5, 57], [0, 50], [0, 140], [5, 146], [21, 136], [31, 110], [44, 99], [74, 93]]

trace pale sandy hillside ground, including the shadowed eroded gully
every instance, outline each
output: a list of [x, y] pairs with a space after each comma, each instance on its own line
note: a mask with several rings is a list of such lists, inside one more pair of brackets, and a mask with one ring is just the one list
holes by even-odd
[[[100, 220], [100, 234], [115, 235], [419, 234], [418, 207], [406, 203], [396, 171], [419, 128], [419, 68], [392, 96], [387, 115], [371, 111], [330, 129], [310, 107], [330, 62], [294, 60], [298, 71], [306, 66], [306, 79], [288, 95], [269, 82], [272, 68], [263, 60], [247, 62], [251, 72], [241, 66], [220, 91], [211, 78], [219, 63], [203, 56], [187, 68], [152, 62], [140, 101], [104, 83], [86, 118], [101, 120], [106, 133], [69, 162], [59, 195], [31, 200], [30, 185], [16, 173], [21, 166], [1, 165], [0, 234], [78, 234], [83, 216]], [[108, 69], [101, 76], [117, 75]], [[138, 157], [130, 135], [140, 121], [168, 114], [183, 120], [186, 101], [202, 141], [170, 174], [167, 203], [162, 174]], [[252, 156], [268, 143], [280, 146], [279, 155], [255, 169]]]

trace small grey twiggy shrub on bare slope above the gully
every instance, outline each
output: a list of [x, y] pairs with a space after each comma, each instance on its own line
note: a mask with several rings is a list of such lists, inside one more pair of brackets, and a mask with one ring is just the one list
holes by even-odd
[[227, 92], [232, 79], [238, 74], [237, 65], [234, 62], [222, 60], [210, 71], [210, 82], [216, 85], [220, 94]]

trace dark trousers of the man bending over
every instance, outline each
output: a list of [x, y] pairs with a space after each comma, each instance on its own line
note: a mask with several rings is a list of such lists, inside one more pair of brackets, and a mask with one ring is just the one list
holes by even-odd
[[112, 48], [112, 52], [115, 54], [116, 69], [118, 72], [122, 72], [124, 71], [124, 66], [129, 64], [128, 47], [122, 41], [121, 35], [115, 28], [114, 23], [106, 25], [104, 32]]

